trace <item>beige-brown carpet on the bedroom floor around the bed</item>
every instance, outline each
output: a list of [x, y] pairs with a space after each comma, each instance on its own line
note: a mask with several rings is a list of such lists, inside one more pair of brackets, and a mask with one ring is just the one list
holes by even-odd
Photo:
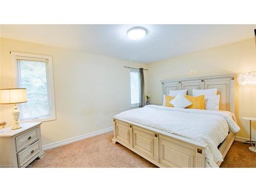
[[[121, 144], [112, 143], [113, 132], [105, 133], [45, 152], [32, 167], [156, 167]], [[221, 167], [256, 167], [256, 154], [248, 144], [234, 142]]]

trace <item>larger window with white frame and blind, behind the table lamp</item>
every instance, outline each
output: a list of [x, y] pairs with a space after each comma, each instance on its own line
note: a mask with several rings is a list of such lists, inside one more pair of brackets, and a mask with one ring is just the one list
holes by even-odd
[[51, 57], [16, 52], [11, 54], [16, 86], [27, 89], [28, 102], [19, 104], [20, 120], [55, 120]]

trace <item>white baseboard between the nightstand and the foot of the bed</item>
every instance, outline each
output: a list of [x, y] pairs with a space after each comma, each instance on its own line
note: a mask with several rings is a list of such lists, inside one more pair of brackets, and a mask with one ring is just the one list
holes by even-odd
[[50, 143], [50, 144], [47, 144], [47, 145], [42, 145], [42, 150], [50, 150], [51, 148], [55, 148], [57, 146], [66, 145], [66, 144], [69, 144], [69, 143], [73, 143], [75, 141], [79, 141], [79, 140], [86, 139], [86, 138], [89, 138], [89, 137], [93, 137], [93, 136], [96, 136], [96, 135], [100, 135], [100, 134], [103, 134], [103, 133], [111, 132], [113, 130], [114, 129], [113, 129], [113, 126], [112, 126], [112, 127], [109, 127], [109, 128], [103, 129], [103, 130], [99, 130], [99, 131], [96, 131], [96, 132], [80, 135], [80, 136], [73, 137], [73, 138], [70, 138], [70, 139], [65, 139], [65, 140], [62, 140], [62, 141], [57, 141], [57, 142]]

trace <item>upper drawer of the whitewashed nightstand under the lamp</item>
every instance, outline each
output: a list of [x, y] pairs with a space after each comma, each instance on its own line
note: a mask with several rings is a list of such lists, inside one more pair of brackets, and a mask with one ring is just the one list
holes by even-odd
[[17, 152], [22, 150], [24, 147], [28, 146], [29, 144], [33, 143], [38, 138], [39, 138], [39, 128], [38, 127], [36, 127], [35, 129], [33, 129], [23, 135], [15, 137]]

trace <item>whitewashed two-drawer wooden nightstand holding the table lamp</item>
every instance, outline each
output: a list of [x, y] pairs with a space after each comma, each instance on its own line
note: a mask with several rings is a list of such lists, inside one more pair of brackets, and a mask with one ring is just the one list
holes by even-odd
[[44, 157], [40, 124], [20, 123], [21, 129], [0, 130], [0, 167], [26, 167], [36, 158]]

